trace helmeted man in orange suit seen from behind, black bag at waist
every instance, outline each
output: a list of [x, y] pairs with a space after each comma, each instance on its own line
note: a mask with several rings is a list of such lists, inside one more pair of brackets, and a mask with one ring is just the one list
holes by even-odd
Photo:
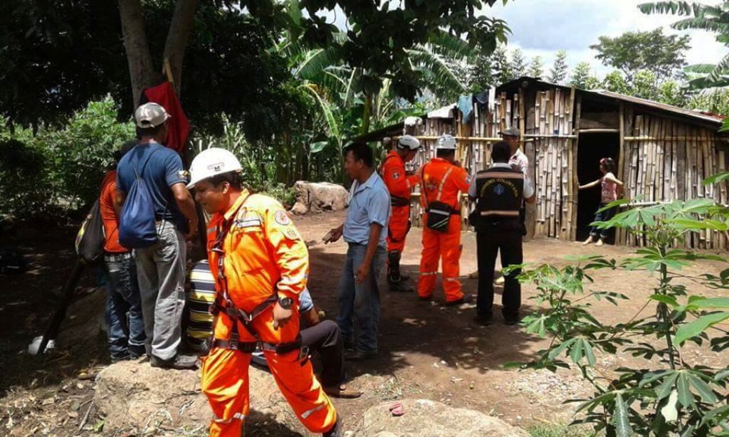
[[435, 146], [435, 158], [421, 168], [421, 205], [426, 211], [423, 221], [423, 253], [420, 261], [418, 297], [430, 300], [438, 275], [438, 261], [443, 256], [443, 291], [445, 304], [472, 302], [464, 296], [459, 282], [461, 261], [461, 202], [459, 192], [468, 192], [471, 178], [456, 161], [456, 138], [443, 135]]

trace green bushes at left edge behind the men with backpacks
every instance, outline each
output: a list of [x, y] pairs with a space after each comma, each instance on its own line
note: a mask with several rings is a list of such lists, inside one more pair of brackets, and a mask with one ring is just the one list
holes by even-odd
[[98, 198], [113, 152], [135, 137], [132, 123], [117, 122], [117, 109], [106, 97], [60, 129], [0, 129], [0, 213], [47, 216], [60, 205], [74, 210]]

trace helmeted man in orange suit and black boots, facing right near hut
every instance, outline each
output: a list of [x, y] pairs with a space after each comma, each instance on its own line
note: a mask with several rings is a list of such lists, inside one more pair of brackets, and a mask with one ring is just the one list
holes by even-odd
[[407, 275], [400, 272], [400, 258], [405, 237], [410, 231], [410, 193], [420, 182], [420, 173], [405, 173], [405, 162], [412, 161], [420, 149], [420, 141], [403, 135], [387, 154], [380, 167], [380, 176], [390, 192], [390, 223], [387, 228], [387, 285], [390, 291], [413, 291]]

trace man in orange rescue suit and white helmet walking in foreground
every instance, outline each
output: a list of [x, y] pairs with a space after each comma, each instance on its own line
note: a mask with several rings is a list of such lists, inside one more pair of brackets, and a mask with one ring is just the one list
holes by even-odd
[[248, 366], [257, 342], [278, 389], [312, 433], [340, 436], [334, 406], [301, 350], [299, 294], [308, 252], [281, 204], [241, 188], [242, 170], [224, 149], [200, 152], [190, 166], [195, 200], [212, 214], [208, 260], [215, 277], [214, 340], [201, 387], [213, 410], [210, 436], [241, 436], [249, 413]]

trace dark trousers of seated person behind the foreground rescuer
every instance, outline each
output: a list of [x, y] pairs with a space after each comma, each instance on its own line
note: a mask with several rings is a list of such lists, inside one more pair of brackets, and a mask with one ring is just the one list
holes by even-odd
[[321, 385], [340, 385], [344, 381], [344, 344], [337, 323], [324, 320], [302, 329], [299, 334], [301, 345], [316, 351], [321, 357]]

